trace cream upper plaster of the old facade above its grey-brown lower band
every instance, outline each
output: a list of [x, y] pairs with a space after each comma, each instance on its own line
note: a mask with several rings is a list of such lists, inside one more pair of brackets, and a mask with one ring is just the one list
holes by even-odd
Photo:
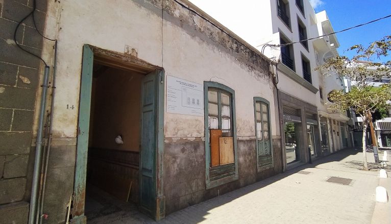
[[[78, 107], [81, 52], [85, 43], [117, 52], [124, 52], [125, 45], [129, 45], [138, 50], [140, 59], [162, 66], [166, 75], [198, 83], [212, 80], [231, 87], [236, 91], [238, 136], [255, 135], [252, 98], [263, 97], [275, 108], [266, 60], [178, 4], [171, 1], [163, 4], [163, 25], [160, 2], [60, 4], [56, 137], [76, 137], [78, 111], [65, 108], [68, 104]], [[100, 16], [114, 14], [117, 16]], [[273, 112], [271, 118], [275, 120]], [[183, 125], [189, 122], [192, 128]], [[275, 124], [272, 131], [276, 135]], [[202, 117], [165, 114], [166, 137], [202, 137], [203, 132]]]

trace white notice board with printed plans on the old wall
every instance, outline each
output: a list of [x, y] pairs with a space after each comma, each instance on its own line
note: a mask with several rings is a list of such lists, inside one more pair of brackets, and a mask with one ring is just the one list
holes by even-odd
[[204, 116], [204, 87], [167, 75], [167, 113]]

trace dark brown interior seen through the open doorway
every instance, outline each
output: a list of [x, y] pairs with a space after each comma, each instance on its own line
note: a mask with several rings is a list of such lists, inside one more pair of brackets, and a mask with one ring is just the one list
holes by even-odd
[[129, 70], [93, 65], [85, 203], [88, 220], [139, 201], [143, 77]]

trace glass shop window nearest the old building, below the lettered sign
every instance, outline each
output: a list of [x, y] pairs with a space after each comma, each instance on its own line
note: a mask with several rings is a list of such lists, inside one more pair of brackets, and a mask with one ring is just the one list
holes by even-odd
[[284, 123], [287, 164], [300, 161], [299, 125], [300, 123], [295, 122]]

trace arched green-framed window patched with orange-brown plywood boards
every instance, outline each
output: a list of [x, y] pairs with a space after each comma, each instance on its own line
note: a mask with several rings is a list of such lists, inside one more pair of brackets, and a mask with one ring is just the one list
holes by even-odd
[[204, 82], [206, 188], [238, 179], [235, 91]]

